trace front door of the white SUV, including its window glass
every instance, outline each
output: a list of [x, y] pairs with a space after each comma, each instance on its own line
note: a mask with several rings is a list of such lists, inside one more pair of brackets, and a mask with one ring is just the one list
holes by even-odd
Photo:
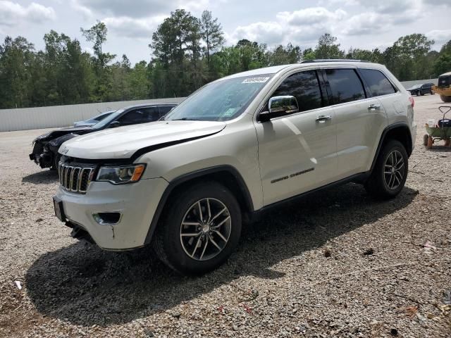
[[323, 92], [316, 70], [292, 74], [271, 97], [295, 96], [299, 112], [255, 123], [264, 205], [333, 182], [335, 120]]

